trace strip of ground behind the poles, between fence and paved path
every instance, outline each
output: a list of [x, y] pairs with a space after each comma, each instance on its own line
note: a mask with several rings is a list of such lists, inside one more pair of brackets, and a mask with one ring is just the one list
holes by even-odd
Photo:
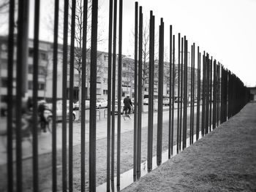
[[[196, 121], [196, 116], [195, 116]], [[157, 122], [154, 122], [157, 123]], [[187, 125], [189, 128], [189, 116], [187, 118]], [[174, 122], [173, 143], [176, 145], [176, 121]], [[168, 148], [168, 121], [163, 123], [162, 127], [162, 151]], [[189, 137], [189, 131], [187, 131]], [[157, 154], [157, 124], [154, 124], [153, 137], [153, 156]], [[147, 144], [148, 144], [148, 130], [142, 128], [141, 139], [141, 163], [147, 158]], [[97, 140], [97, 185], [106, 182], [107, 172], [107, 139]], [[68, 151], [67, 151], [68, 154]], [[51, 153], [39, 155], [39, 189], [40, 191], [51, 191]], [[116, 155], [115, 155], [116, 161]], [[68, 159], [67, 159], [68, 162]], [[116, 165], [116, 163], [115, 163]], [[121, 134], [121, 173], [127, 172], [133, 167], [133, 131]], [[15, 164], [14, 164], [15, 169]], [[62, 163], [61, 150], [57, 151], [57, 177], [58, 190], [61, 191], [62, 181]], [[116, 169], [116, 166], [115, 166]], [[7, 167], [0, 166], [0, 191], [5, 191], [7, 186]], [[115, 171], [116, 172], [116, 171]], [[67, 169], [68, 174], [68, 169]], [[73, 174], [74, 174], [74, 191], [80, 191], [80, 145], [73, 147]], [[14, 173], [15, 175], [15, 173]], [[68, 178], [67, 178], [68, 180]], [[68, 182], [68, 181], [67, 181]], [[89, 143], [86, 143], [86, 188], [89, 187]], [[23, 160], [23, 191], [32, 191], [32, 160], [31, 158]]]

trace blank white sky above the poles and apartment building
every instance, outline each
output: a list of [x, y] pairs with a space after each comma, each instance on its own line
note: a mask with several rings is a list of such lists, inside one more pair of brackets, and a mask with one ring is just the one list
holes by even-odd
[[[40, 39], [52, 41], [52, 32], [45, 22], [53, 14], [54, 6], [41, 1]], [[156, 30], [160, 18], [165, 22], [165, 47], [169, 45], [169, 25], [173, 33], [186, 35], [189, 46], [195, 42], [200, 51], [206, 50], [248, 86], [256, 85], [256, 0], [139, 0], [144, 18], [149, 11], [156, 16]], [[99, 50], [108, 51], [108, 0], [99, 0], [99, 28], [105, 43]], [[134, 0], [124, 0], [123, 54], [133, 55]], [[34, 2], [31, 1], [31, 8]], [[33, 22], [34, 13], [30, 9]], [[0, 30], [2, 34], [2, 31]], [[32, 37], [33, 28], [30, 28]], [[177, 40], [176, 40], [177, 41]]]

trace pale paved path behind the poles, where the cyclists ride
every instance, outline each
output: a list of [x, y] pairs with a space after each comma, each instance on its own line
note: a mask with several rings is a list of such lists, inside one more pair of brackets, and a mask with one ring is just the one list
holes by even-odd
[[[144, 106], [145, 112], [142, 114], [142, 128], [148, 126], [148, 107]], [[169, 120], [169, 107], [163, 107], [163, 122]], [[188, 110], [189, 115], [190, 110]], [[196, 112], [196, 110], [195, 110]], [[177, 112], [174, 113], [174, 118], [176, 118]], [[86, 142], [89, 142], [89, 110], [86, 110]], [[154, 123], [157, 122], [157, 111], [154, 111]], [[117, 115], [116, 115], [116, 122], [117, 125]], [[121, 117], [121, 134], [133, 131], [133, 115], [131, 115], [131, 120], [124, 120]], [[0, 122], [2, 130], [6, 128], [6, 120], [1, 119]], [[116, 126], [117, 127], [117, 126]], [[68, 138], [69, 138], [69, 131], [68, 131], [68, 124], [67, 124], [67, 146], [68, 146]], [[80, 145], [80, 123], [73, 123], [73, 146]], [[117, 128], [116, 130], [117, 131]], [[107, 118], [104, 118], [104, 111], [101, 112], [101, 120], [97, 120], [97, 139], [102, 139], [107, 137]], [[52, 151], [52, 135], [47, 133], [42, 133], [39, 135], [38, 138], [38, 154], [50, 153]], [[13, 142], [13, 146], [15, 147], [15, 141]], [[29, 158], [32, 155], [32, 143], [31, 139], [25, 139], [22, 142], [23, 147], [23, 158]], [[57, 150], [62, 148], [62, 127], [61, 123], [57, 124]], [[13, 150], [13, 156], [15, 158], [15, 148]], [[6, 136], [0, 136], [0, 164], [7, 163], [7, 139]]]

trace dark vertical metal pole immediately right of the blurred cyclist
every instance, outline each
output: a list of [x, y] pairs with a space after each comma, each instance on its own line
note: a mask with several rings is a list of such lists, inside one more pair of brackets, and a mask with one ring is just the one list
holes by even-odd
[[56, 100], [57, 100], [58, 28], [59, 28], [59, 0], [56, 0], [55, 10], [54, 10], [54, 40], [53, 40], [53, 133], [52, 133], [53, 191], [57, 191]]

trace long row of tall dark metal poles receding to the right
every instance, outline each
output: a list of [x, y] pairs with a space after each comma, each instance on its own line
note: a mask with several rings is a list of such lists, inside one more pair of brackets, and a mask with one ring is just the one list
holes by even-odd
[[[23, 97], [26, 95], [27, 85], [27, 60], [28, 60], [28, 4], [29, 0], [18, 1], [18, 31], [15, 35], [15, 1], [10, 0], [10, 20], [9, 20], [9, 37], [8, 37], [8, 76], [7, 76], [7, 189], [8, 191], [26, 191], [23, 188]], [[37, 130], [37, 88], [38, 88], [38, 66], [39, 66], [39, 0], [35, 0], [34, 4], [34, 63], [33, 63], [33, 128], [32, 128], [32, 170], [33, 170], [33, 191], [40, 191], [39, 188], [39, 155], [38, 155], [38, 130]], [[73, 183], [73, 97], [69, 97], [69, 114], [67, 114], [67, 65], [68, 65], [68, 46], [70, 51], [69, 64], [69, 88], [72, 93], [74, 87], [74, 49], [75, 49], [75, 4], [72, 0], [72, 5], [69, 1], [64, 1], [64, 28], [59, 28], [59, 0], [55, 0], [55, 16], [54, 16], [54, 42], [53, 42], [53, 118], [52, 118], [52, 191], [72, 191]], [[83, 64], [82, 64], [82, 86], [81, 98], [86, 98], [86, 26], [87, 26], [87, 1], [83, 1]], [[122, 11], [123, 1], [109, 1], [109, 38], [108, 38], [108, 123], [107, 129], [107, 172], [106, 191], [113, 190], [116, 185], [120, 186], [120, 154], [121, 154], [121, 83], [122, 83], [122, 58], [118, 57], [116, 64], [117, 50], [116, 40], [118, 37], [118, 55], [122, 55]], [[118, 7], [118, 6], [119, 7]], [[71, 12], [71, 28], [69, 28], [69, 6], [72, 6]], [[125, 8], [125, 7], [124, 7]], [[117, 12], [118, 11], [118, 12]], [[118, 18], [118, 35], [117, 35], [117, 18]], [[89, 183], [86, 183], [86, 103], [81, 100], [81, 120], [80, 120], [80, 191], [86, 191], [86, 186], [89, 185], [89, 191], [96, 191], [96, 145], [97, 145], [97, 20], [98, 20], [98, 1], [91, 2], [91, 64], [90, 64], [90, 116], [89, 116]], [[158, 42], [159, 61], [158, 61], [158, 107], [157, 107], [157, 165], [162, 163], [162, 115], [163, 115], [163, 72], [164, 72], [164, 28], [165, 23], [161, 18], [159, 25], [159, 39], [155, 39], [155, 18], [153, 12], [150, 12], [150, 28], [149, 28], [149, 70], [148, 70], [148, 150], [147, 150], [147, 168], [148, 172], [152, 169], [153, 158], [153, 117], [154, 117], [154, 67], [155, 63], [155, 42]], [[168, 133], [168, 158], [173, 155], [173, 142], [176, 139], [177, 151], [179, 153], [187, 147], [187, 134], [189, 130], [189, 141], [192, 145], [194, 132], [196, 140], [199, 139], [200, 133], [202, 136], [208, 134], [212, 129], [224, 123], [228, 118], [231, 118], [249, 101], [249, 91], [244, 86], [244, 83], [236, 77], [235, 74], [225, 69], [222, 64], [215, 60], [211, 55], [200, 51], [200, 47], [196, 47], [192, 43], [189, 47], [189, 42], [186, 36], [181, 37], [181, 34], [173, 34], [173, 27], [170, 28], [170, 108], [169, 108], [169, 131]], [[61, 149], [61, 178], [57, 177], [57, 147], [56, 147], [56, 99], [57, 99], [57, 64], [58, 64], [58, 31], [64, 32], [62, 47], [63, 65], [62, 67], [62, 149]], [[70, 45], [68, 44], [68, 31], [71, 30]], [[17, 39], [17, 40], [16, 40]], [[178, 52], [175, 53], [175, 49]], [[140, 178], [141, 164], [141, 130], [142, 130], [142, 70], [143, 70], [143, 9], [138, 7], [138, 2], [135, 2], [135, 78], [134, 78], [134, 152], [133, 152], [133, 176], [135, 180]], [[14, 61], [14, 49], [17, 47], [16, 62]], [[190, 50], [191, 49], [191, 50]], [[191, 66], [188, 66], [190, 50]], [[178, 58], [178, 74], [175, 73], [175, 61]], [[14, 70], [14, 66], [16, 70]], [[116, 74], [116, 67], [118, 71]], [[190, 67], [190, 68], [189, 68]], [[188, 70], [190, 69], [190, 70]], [[15, 72], [15, 76], [13, 75]], [[197, 75], [195, 75], [197, 74]], [[175, 77], [175, 76], [178, 77]], [[116, 86], [116, 77], [118, 85]], [[189, 78], [190, 77], [190, 78]], [[176, 82], [176, 78], [178, 81]], [[195, 79], [197, 78], [197, 79]], [[190, 81], [190, 82], [189, 82]], [[13, 82], [16, 82], [15, 85]], [[197, 83], [195, 83], [197, 82]], [[191, 87], [189, 87], [189, 85]], [[175, 105], [175, 86], [178, 87], [177, 93], [177, 109]], [[117, 90], [116, 90], [117, 88]], [[15, 91], [14, 91], [15, 90]], [[189, 92], [190, 91], [190, 92]], [[111, 111], [115, 111], [116, 92], [118, 98], [118, 115], [117, 125], [115, 125], [115, 115], [110, 115]], [[14, 97], [15, 96], [15, 97]], [[14, 102], [15, 101], [15, 102]], [[113, 101], [113, 102], [111, 102]], [[190, 103], [190, 105], [188, 105]], [[195, 108], [196, 104], [196, 108]], [[13, 110], [15, 109], [15, 110]], [[190, 110], [190, 120], [187, 112]], [[196, 110], [196, 111], [195, 111]], [[177, 118], [175, 118], [177, 114]], [[67, 128], [67, 115], [69, 115], [69, 127]], [[13, 126], [13, 118], [15, 117], [15, 126]], [[176, 124], [174, 121], [176, 120]], [[189, 120], [189, 128], [187, 121]], [[195, 120], [195, 122], [194, 122]], [[195, 124], [195, 125], [194, 125]], [[177, 125], [177, 126], [176, 126]], [[115, 135], [115, 129], [117, 134]], [[69, 137], [67, 138], [67, 131]], [[176, 138], [173, 138], [176, 131]], [[117, 139], [117, 142], [116, 142]], [[131, 138], [132, 139], [132, 138]], [[15, 140], [13, 146], [12, 141]], [[67, 149], [68, 143], [68, 149]], [[182, 144], [182, 145], [181, 145]], [[115, 146], [117, 145], [117, 146]], [[115, 148], [117, 150], [115, 152]], [[15, 161], [12, 151], [15, 151]], [[115, 158], [116, 164], [115, 164]], [[15, 164], [14, 164], [15, 163]], [[115, 169], [116, 167], [116, 169]], [[15, 173], [15, 175], [14, 175]], [[116, 174], [116, 183], [114, 177]], [[61, 182], [61, 188], [57, 188], [57, 183]]]

